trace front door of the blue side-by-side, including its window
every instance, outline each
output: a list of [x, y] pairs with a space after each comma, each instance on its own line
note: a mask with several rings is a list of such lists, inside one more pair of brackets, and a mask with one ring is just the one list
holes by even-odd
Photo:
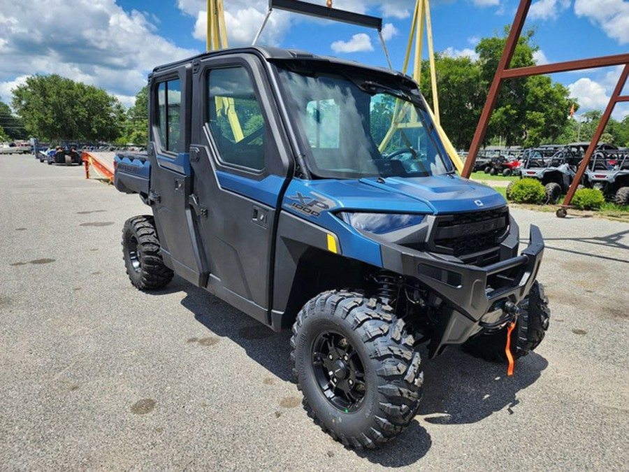
[[207, 288], [270, 324], [275, 216], [291, 167], [273, 91], [252, 54], [195, 67], [189, 201]]

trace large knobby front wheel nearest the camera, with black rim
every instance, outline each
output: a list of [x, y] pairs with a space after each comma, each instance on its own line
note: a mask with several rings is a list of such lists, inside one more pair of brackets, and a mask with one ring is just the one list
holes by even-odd
[[335, 440], [375, 448], [419, 408], [421, 358], [413, 337], [380, 299], [324, 292], [297, 315], [291, 359], [303, 406]]

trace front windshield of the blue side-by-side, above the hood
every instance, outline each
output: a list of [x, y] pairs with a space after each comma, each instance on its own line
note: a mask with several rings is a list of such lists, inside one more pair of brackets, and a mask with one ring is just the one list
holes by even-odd
[[452, 171], [419, 94], [329, 73], [280, 69], [310, 171], [324, 178]]

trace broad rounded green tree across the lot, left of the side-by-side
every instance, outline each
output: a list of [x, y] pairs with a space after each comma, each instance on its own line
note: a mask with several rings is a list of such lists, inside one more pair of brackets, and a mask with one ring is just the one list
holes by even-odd
[[12, 105], [27, 131], [41, 139], [113, 141], [124, 121], [114, 96], [57, 74], [27, 78], [13, 90]]

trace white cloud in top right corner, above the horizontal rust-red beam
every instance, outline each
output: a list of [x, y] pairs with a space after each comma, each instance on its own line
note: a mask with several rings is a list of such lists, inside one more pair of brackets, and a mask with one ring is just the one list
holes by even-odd
[[629, 43], [629, 2], [623, 0], [576, 0], [574, 13], [587, 17], [619, 44]]

